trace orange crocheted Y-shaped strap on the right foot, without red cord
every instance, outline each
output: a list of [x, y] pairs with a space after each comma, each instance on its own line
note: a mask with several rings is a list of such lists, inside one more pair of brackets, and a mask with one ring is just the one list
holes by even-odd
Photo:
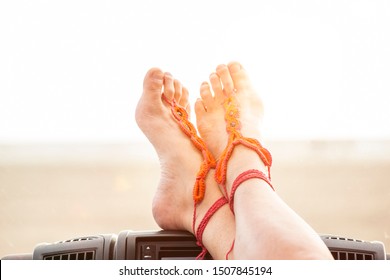
[[271, 179], [272, 156], [271, 153], [266, 148], [264, 148], [257, 139], [244, 137], [241, 134], [241, 123], [238, 120], [240, 117], [240, 111], [238, 109], [237, 100], [234, 96], [234, 93], [232, 93], [225, 100], [223, 105], [225, 107], [226, 131], [229, 135], [229, 139], [225, 150], [222, 152], [218, 160], [215, 171], [215, 180], [218, 184], [223, 186], [225, 196], [228, 197], [226, 189], [226, 172], [228, 161], [232, 156], [235, 147], [238, 145], [243, 145], [255, 151], [268, 169], [268, 180]]

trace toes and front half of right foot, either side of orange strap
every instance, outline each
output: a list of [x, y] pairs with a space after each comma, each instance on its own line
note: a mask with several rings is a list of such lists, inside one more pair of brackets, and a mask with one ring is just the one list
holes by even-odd
[[234, 95], [239, 105], [241, 132], [243, 136], [260, 139], [260, 123], [263, 117], [263, 103], [253, 89], [243, 67], [232, 62], [219, 65], [216, 73], [210, 75], [210, 84], [202, 83], [201, 99], [195, 103], [197, 127], [210, 151], [218, 158], [228, 141], [225, 122], [227, 97]]

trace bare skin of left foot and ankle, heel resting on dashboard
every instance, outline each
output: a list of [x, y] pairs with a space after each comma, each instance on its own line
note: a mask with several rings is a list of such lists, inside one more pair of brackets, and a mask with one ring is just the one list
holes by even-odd
[[[180, 82], [160, 69], [150, 69], [145, 76], [144, 92], [135, 117], [154, 146], [161, 165], [161, 179], [152, 206], [153, 216], [163, 229], [194, 233], [192, 191], [202, 156], [173, 119], [171, 107], [162, 99], [163, 93], [167, 99], [188, 108], [188, 92]], [[195, 228], [210, 206], [222, 196], [212, 172], [206, 183], [205, 198], [197, 207]], [[234, 231], [234, 217], [225, 205], [211, 218], [203, 234], [203, 243], [213, 258], [225, 258], [234, 239]]]

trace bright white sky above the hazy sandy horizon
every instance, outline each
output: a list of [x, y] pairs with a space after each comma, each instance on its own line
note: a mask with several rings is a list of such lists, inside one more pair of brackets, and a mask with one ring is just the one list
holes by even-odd
[[390, 2], [1, 1], [0, 143], [144, 140], [143, 76], [240, 61], [269, 139], [390, 139]]

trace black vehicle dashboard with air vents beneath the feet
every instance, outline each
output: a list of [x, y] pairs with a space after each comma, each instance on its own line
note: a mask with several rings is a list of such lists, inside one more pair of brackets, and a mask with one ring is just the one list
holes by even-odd
[[[335, 260], [390, 260], [379, 241], [320, 235]], [[304, 242], [304, 240], [302, 241]], [[97, 234], [55, 243], [41, 243], [32, 253], [4, 256], [2, 260], [172, 260], [195, 259], [201, 252], [185, 231], [131, 231]], [[206, 259], [212, 259], [210, 255]]]

